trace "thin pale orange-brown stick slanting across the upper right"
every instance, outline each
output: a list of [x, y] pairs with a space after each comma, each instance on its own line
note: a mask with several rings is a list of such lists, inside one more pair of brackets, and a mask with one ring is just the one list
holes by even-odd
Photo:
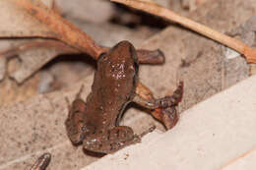
[[229, 37], [217, 30], [214, 30], [212, 28], [208, 28], [206, 26], [203, 26], [201, 24], [198, 24], [192, 20], [189, 20], [185, 17], [181, 17], [174, 12], [165, 9], [156, 3], [152, 2], [143, 2], [139, 0], [111, 0], [113, 2], [118, 2], [121, 4], [125, 4], [129, 7], [144, 11], [146, 13], [150, 13], [152, 15], [159, 16], [161, 18], [164, 18], [166, 20], [178, 23], [182, 25], [185, 28], [190, 28], [198, 33], [201, 33], [211, 39], [214, 39], [218, 42], [223, 43], [224, 45], [234, 49], [235, 51], [243, 54], [245, 58], [247, 59], [247, 62], [256, 63], [256, 50], [247, 46], [245, 43]]

